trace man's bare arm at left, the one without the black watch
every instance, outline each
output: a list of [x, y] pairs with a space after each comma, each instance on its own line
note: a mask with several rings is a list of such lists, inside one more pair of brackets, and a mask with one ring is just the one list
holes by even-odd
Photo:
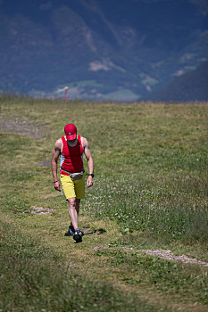
[[61, 185], [57, 177], [57, 163], [59, 160], [59, 156], [61, 154], [61, 150], [62, 150], [62, 140], [59, 139], [54, 144], [54, 151], [53, 151], [52, 159], [51, 159], [51, 169], [52, 169], [52, 176], [54, 178], [54, 188], [59, 192], [61, 192]]

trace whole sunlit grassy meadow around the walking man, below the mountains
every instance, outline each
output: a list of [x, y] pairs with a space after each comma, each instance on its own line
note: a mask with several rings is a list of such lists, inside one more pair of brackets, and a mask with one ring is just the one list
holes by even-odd
[[[207, 103], [3, 94], [0, 105], [0, 311], [207, 310], [206, 266], [145, 252], [208, 262]], [[67, 123], [96, 167], [79, 215], [96, 233], [79, 244], [64, 236], [67, 203], [50, 168]]]

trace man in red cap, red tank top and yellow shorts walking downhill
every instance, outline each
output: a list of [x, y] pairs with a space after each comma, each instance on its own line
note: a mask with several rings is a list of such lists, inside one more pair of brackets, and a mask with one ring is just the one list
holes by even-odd
[[60, 179], [63, 193], [68, 201], [71, 219], [71, 225], [66, 235], [72, 235], [76, 242], [82, 242], [82, 232], [78, 226], [78, 215], [80, 200], [85, 198], [83, 153], [87, 158], [88, 166], [87, 187], [93, 185], [94, 161], [87, 139], [77, 135], [77, 127], [75, 125], [66, 125], [64, 132], [65, 135], [54, 144], [51, 160], [54, 188], [61, 192], [61, 185], [57, 177], [57, 162], [60, 157]]

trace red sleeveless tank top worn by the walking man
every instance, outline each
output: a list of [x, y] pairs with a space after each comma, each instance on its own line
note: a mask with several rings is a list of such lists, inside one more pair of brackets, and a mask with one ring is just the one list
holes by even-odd
[[[62, 153], [60, 157], [60, 174], [69, 176], [69, 173], [79, 172], [84, 170], [83, 166], [83, 147], [81, 145], [81, 137], [78, 135], [78, 143], [75, 146], [67, 145], [66, 139], [64, 136], [62, 139]], [[65, 172], [65, 171], [68, 172]]]

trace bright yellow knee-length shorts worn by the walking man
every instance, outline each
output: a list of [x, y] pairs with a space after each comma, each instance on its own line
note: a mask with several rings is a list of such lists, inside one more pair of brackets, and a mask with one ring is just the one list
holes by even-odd
[[66, 200], [76, 197], [81, 200], [85, 198], [85, 177], [73, 181], [70, 176], [61, 175], [62, 191]]

